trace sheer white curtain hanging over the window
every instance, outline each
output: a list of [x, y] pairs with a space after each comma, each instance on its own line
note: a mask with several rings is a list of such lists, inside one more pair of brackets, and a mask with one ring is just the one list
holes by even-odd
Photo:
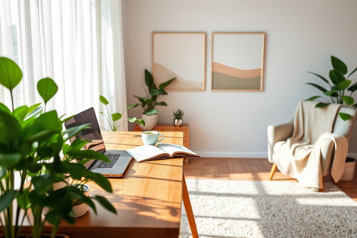
[[[0, 0], [0, 55], [23, 73], [15, 106], [41, 102], [37, 81], [51, 77], [59, 90], [50, 109], [69, 116], [94, 107], [100, 125], [109, 128], [98, 113], [99, 95], [111, 113], [126, 108], [121, 22], [120, 0]], [[0, 102], [10, 105], [3, 87]]]

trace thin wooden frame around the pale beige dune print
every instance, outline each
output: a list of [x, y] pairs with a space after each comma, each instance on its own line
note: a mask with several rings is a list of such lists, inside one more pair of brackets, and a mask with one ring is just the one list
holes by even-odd
[[[203, 34], [204, 35], [204, 51], [203, 51], [203, 84], [200, 89], [179, 89], [179, 88], [165, 88], [166, 91], [205, 91], [206, 90], [206, 50], [207, 50], [207, 37], [206, 32], [152, 32], [152, 75], [155, 81], [155, 67], [154, 67], [154, 35], [155, 34]], [[167, 79], [169, 80], [169, 79]]]

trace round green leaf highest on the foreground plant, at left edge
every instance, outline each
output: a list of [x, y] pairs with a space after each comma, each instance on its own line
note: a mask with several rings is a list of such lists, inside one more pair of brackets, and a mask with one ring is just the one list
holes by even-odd
[[22, 72], [17, 64], [5, 57], [0, 57], [0, 83], [10, 91], [20, 83]]

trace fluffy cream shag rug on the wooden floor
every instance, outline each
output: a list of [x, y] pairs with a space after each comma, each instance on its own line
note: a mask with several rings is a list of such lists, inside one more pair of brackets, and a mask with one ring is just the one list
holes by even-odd
[[[186, 179], [200, 238], [357, 237], [357, 203], [332, 183]], [[191, 236], [182, 205], [181, 238]]]

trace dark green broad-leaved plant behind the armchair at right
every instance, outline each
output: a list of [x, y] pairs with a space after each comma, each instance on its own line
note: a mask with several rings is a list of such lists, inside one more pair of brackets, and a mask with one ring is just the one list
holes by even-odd
[[[322, 81], [328, 84], [330, 87], [329, 90], [327, 90], [325, 87], [322, 87], [320, 85], [317, 85], [315, 83], [307, 83], [313, 87], [316, 87], [318, 90], [322, 91], [325, 96], [330, 97], [332, 103], [340, 103], [342, 105], [345, 105], [347, 107], [352, 107], [352, 108], [357, 108], [357, 103], [355, 103], [355, 100], [352, 96], [352, 93], [357, 90], [357, 82], [351, 85], [351, 80], [349, 80], [350, 76], [357, 71], [356, 69], [352, 70], [350, 74], [345, 77], [347, 74], [347, 66], [342, 60], [338, 59], [335, 56], [331, 55], [331, 64], [332, 64], [332, 70], [329, 72], [329, 77], [331, 80], [331, 83], [323, 76], [315, 74], [313, 72], [308, 72], [310, 74], [316, 75], [319, 77]], [[347, 90], [347, 91], [346, 91]], [[349, 93], [349, 94], [348, 94]], [[305, 101], [313, 101], [316, 98], [321, 98], [322, 96], [312, 96], [310, 98], [307, 98]], [[316, 104], [315, 108], [323, 108], [329, 105], [330, 103], [325, 103], [325, 102], [319, 102]], [[339, 113], [340, 117], [342, 120], [347, 121], [348, 118], [351, 117], [350, 114], [348, 113]]]

